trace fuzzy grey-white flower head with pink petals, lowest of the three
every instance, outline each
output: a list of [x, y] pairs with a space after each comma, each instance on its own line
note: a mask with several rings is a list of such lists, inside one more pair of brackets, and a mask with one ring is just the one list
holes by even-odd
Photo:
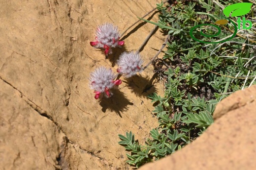
[[95, 90], [95, 99], [98, 99], [101, 94], [104, 94], [106, 97], [111, 97], [112, 93], [110, 89], [115, 85], [120, 85], [122, 80], [115, 80], [116, 75], [112, 72], [111, 69], [105, 67], [99, 67], [95, 72], [91, 73], [91, 89]]

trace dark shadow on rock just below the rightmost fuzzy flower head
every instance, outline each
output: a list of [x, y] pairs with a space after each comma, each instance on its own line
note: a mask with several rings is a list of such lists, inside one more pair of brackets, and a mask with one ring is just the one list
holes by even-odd
[[128, 89], [132, 93], [136, 94], [138, 97], [147, 97], [149, 94], [157, 93], [157, 89], [153, 85], [153, 80], [155, 76], [151, 79], [142, 77], [141, 75], [134, 75], [123, 80], [124, 83], [128, 85]]

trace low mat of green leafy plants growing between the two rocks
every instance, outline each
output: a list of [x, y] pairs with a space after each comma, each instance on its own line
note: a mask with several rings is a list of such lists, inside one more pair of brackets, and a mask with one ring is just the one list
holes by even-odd
[[[198, 24], [220, 20], [224, 6], [238, 0], [186, 0], [174, 5], [157, 4], [160, 26], [170, 36], [162, 59], [155, 61], [155, 72], [164, 81], [164, 96], [154, 93], [148, 97], [156, 105], [153, 113], [159, 126], [141, 145], [132, 132], [119, 134], [129, 165], [141, 165], [158, 160], [194, 141], [213, 122], [216, 104], [237, 90], [256, 84], [256, 35], [252, 30], [240, 30], [232, 40], [221, 44], [203, 44], [192, 39], [190, 30]], [[247, 15], [252, 19], [255, 9]], [[237, 18], [237, 17], [235, 17]], [[234, 20], [235, 18], [232, 18]], [[254, 25], [254, 24], [253, 24]], [[222, 27], [219, 38], [232, 34], [233, 26]], [[206, 27], [207, 34], [215, 34]], [[196, 32], [195, 32], [196, 34]], [[197, 36], [197, 35], [196, 35]], [[198, 35], [199, 36], [199, 35]], [[215, 38], [200, 37], [213, 42]]]

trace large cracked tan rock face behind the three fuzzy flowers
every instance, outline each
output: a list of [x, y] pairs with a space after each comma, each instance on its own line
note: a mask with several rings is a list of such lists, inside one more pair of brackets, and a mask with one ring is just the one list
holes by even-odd
[[[89, 75], [112, 68], [123, 51], [136, 50], [154, 28], [140, 22], [123, 37], [125, 47], [103, 52], [90, 46], [99, 24], [122, 32], [160, 0], [12, 0], [0, 2], [0, 167], [5, 170], [131, 169], [118, 134], [142, 143], [157, 126], [145, 96], [162, 92], [153, 67], [108, 100], [94, 99]], [[157, 21], [157, 15], [149, 16]], [[148, 17], [146, 17], [148, 19]], [[144, 64], [160, 49], [157, 31], [141, 52]], [[139, 134], [139, 135], [138, 135]]]

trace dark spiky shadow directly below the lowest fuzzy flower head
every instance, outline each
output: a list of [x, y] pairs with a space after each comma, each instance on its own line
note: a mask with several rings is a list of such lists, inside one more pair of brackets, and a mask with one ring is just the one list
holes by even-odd
[[124, 95], [123, 92], [120, 92], [118, 89], [111, 89], [113, 93], [112, 97], [106, 98], [102, 97], [99, 102], [102, 107], [102, 112], [106, 112], [107, 109], [111, 111], [115, 111], [121, 118], [120, 112], [124, 112], [128, 110], [128, 105], [133, 105]]

